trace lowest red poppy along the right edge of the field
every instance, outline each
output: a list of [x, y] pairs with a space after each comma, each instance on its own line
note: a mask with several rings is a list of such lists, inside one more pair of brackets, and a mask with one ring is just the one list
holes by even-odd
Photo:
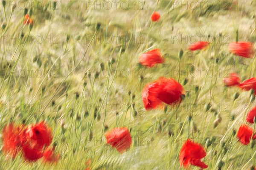
[[[252, 135], [253, 135], [253, 129], [247, 125], [241, 125], [237, 132], [237, 137], [239, 138], [239, 141], [245, 145], [250, 143], [250, 139]], [[253, 136], [253, 140], [254, 139], [256, 139], [256, 134], [254, 134]]]

